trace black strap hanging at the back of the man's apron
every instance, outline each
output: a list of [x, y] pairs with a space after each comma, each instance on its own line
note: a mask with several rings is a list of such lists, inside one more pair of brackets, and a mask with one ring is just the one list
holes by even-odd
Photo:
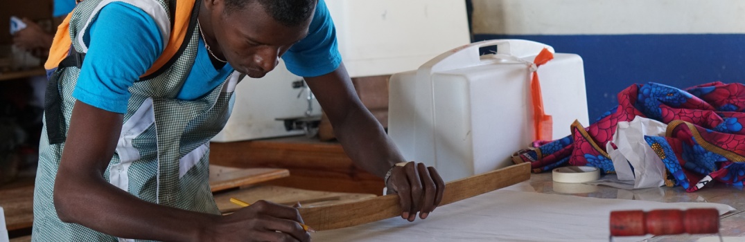
[[[86, 54], [70, 47], [70, 54], [57, 65], [57, 71], [63, 68], [83, 66], [83, 59]], [[55, 71], [55, 72], [57, 72]], [[62, 97], [60, 97], [60, 76], [52, 74], [47, 84], [46, 93], [44, 94], [44, 116], [47, 125], [47, 137], [50, 145], [63, 143], [65, 136], [65, 120], [62, 111]]]

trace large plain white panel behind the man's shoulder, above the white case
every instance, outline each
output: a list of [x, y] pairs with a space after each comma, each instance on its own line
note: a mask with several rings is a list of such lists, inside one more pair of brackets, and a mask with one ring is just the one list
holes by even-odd
[[390, 75], [470, 42], [463, 0], [326, 0], [350, 76]]

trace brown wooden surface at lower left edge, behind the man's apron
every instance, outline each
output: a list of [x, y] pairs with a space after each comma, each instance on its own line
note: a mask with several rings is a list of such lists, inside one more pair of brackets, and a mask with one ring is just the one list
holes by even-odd
[[34, 179], [22, 177], [1, 186], [0, 206], [8, 231], [31, 228], [34, 225]]

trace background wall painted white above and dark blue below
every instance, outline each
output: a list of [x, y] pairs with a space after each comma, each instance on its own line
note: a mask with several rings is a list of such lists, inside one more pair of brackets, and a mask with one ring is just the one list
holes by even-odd
[[589, 117], [635, 83], [745, 79], [745, 1], [472, 0], [474, 39], [528, 39], [584, 59]]

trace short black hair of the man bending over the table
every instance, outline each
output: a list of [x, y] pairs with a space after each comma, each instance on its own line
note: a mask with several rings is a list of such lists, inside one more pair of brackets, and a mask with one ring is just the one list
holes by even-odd
[[318, 2], [318, 0], [225, 0], [226, 13], [244, 10], [251, 1], [259, 3], [269, 16], [288, 27], [295, 27], [305, 22], [315, 10]]

